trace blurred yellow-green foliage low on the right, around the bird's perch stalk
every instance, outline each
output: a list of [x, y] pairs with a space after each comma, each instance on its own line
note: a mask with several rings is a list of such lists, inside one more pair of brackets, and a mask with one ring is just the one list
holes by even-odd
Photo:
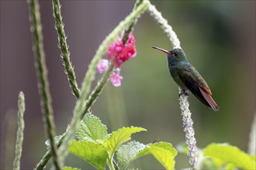
[[[180, 153], [186, 154], [188, 148], [184, 142], [177, 146]], [[255, 155], [248, 155], [239, 148], [224, 144], [212, 143], [199, 149], [199, 168], [201, 169], [255, 169]]]

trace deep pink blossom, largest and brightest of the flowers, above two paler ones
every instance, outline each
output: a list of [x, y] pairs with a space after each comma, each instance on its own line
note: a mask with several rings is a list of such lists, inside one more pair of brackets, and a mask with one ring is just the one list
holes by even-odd
[[126, 44], [123, 44], [121, 38], [112, 42], [107, 50], [106, 56], [112, 61], [115, 68], [119, 68], [123, 62], [136, 56], [135, 39], [130, 32]]

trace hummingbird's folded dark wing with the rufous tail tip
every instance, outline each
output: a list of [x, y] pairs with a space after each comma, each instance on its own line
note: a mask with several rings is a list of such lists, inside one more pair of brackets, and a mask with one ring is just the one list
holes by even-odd
[[211, 90], [202, 76], [193, 66], [188, 66], [186, 71], [179, 72], [181, 80], [194, 95], [197, 97], [203, 104], [206, 104], [208, 107], [212, 107], [213, 110], [219, 110], [218, 105], [213, 100]]

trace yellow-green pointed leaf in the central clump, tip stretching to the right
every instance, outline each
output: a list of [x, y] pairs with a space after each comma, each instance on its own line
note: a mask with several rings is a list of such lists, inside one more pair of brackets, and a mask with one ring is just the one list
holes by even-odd
[[130, 127], [130, 128], [120, 128], [117, 131], [113, 131], [110, 135], [108, 141], [105, 141], [104, 147], [111, 155], [122, 145], [124, 142], [130, 140], [131, 134], [140, 132], [140, 131], [147, 131], [144, 128], [137, 128], [137, 127]]

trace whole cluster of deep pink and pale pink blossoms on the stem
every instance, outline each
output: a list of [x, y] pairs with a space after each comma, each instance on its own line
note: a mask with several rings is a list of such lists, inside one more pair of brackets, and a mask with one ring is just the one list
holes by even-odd
[[[122, 38], [112, 42], [107, 50], [106, 56], [112, 62], [115, 70], [110, 76], [110, 80], [113, 86], [121, 86], [121, 80], [123, 76], [120, 76], [119, 67], [128, 59], [136, 56], [135, 39], [133, 33], [130, 32], [126, 44], [123, 44]], [[98, 63], [97, 70], [99, 73], [104, 73], [109, 69], [109, 60], [101, 59]]]

